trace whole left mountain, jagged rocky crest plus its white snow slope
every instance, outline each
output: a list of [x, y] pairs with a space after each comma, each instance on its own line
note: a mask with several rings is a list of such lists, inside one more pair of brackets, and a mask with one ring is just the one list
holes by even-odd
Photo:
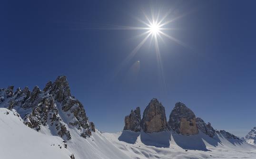
[[0, 89], [3, 159], [70, 159], [72, 154], [75, 159], [130, 159], [89, 122], [65, 76], [48, 82], [42, 91], [38, 86], [32, 92], [28, 87], [13, 89]]

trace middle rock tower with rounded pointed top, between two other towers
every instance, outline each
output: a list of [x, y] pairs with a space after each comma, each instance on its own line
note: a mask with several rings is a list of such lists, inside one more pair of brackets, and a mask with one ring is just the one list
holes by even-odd
[[145, 111], [141, 120], [141, 127], [144, 132], [167, 131], [168, 124], [165, 115], [165, 108], [156, 98], [153, 98]]

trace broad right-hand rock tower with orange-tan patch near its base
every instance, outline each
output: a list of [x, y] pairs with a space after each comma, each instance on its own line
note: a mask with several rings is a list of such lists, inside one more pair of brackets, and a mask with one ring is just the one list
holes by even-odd
[[168, 123], [173, 131], [183, 135], [198, 133], [196, 115], [184, 103], [178, 102], [175, 104]]

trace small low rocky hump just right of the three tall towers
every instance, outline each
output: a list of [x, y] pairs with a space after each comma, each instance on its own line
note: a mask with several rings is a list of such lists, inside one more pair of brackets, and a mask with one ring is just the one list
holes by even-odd
[[196, 118], [197, 128], [202, 131], [203, 133], [207, 134], [210, 137], [214, 137], [215, 130], [211, 126], [211, 123], [208, 122], [207, 124], [201, 118]]

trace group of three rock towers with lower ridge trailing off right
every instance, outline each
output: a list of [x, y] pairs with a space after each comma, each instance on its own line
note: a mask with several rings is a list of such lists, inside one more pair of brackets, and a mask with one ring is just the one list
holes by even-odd
[[239, 139], [227, 131], [214, 130], [210, 122], [205, 123], [203, 119], [196, 117], [195, 113], [181, 102], [175, 104], [174, 109], [170, 113], [169, 122], [167, 123], [165, 108], [156, 98], [150, 101], [143, 112], [141, 120], [139, 107], [135, 111], [132, 110], [130, 115], [125, 117], [124, 130], [135, 132], [143, 130], [148, 133], [174, 131], [182, 135], [195, 135], [201, 131], [210, 137], [214, 137], [218, 133], [228, 139]]

